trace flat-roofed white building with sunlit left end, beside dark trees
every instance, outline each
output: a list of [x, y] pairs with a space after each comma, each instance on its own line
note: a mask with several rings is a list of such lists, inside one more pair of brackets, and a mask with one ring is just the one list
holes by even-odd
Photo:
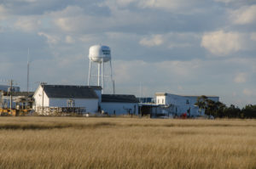
[[[186, 113], [190, 116], [205, 115], [204, 110], [200, 110], [195, 106], [197, 98], [200, 96], [186, 96], [171, 93], [155, 93], [156, 104], [169, 107], [174, 115], [182, 115]], [[207, 99], [218, 102], [218, 96], [207, 96]]]

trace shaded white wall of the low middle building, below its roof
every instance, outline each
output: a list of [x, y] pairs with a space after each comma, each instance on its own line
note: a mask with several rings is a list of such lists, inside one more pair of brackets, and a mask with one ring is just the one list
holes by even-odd
[[138, 104], [137, 103], [114, 103], [114, 102], [102, 102], [102, 110], [108, 112], [108, 115], [128, 115], [128, 109], [130, 109], [130, 114], [138, 114]]

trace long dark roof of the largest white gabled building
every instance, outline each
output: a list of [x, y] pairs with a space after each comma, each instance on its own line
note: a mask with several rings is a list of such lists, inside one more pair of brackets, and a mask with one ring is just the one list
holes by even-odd
[[49, 98], [98, 99], [94, 87], [69, 85], [44, 85]]

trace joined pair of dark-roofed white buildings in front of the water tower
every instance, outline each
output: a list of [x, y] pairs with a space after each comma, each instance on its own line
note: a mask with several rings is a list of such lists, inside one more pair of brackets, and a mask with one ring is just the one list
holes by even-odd
[[81, 114], [137, 115], [134, 95], [102, 94], [102, 87], [39, 85], [33, 95], [33, 108], [39, 115], [74, 111]]

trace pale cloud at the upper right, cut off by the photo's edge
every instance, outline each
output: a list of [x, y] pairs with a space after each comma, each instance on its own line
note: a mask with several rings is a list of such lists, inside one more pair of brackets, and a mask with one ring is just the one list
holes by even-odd
[[256, 21], [256, 5], [241, 7], [230, 11], [230, 20], [237, 25], [251, 24]]

